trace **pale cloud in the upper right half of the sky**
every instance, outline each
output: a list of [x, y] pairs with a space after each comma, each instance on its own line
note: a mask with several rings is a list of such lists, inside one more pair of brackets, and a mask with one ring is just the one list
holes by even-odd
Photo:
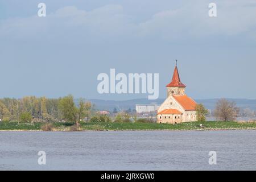
[[157, 13], [139, 24], [141, 35], [158, 35], [163, 39], [205, 38], [205, 36], [236, 36], [255, 32], [256, 6], [233, 1], [217, 3], [217, 17], [208, 16], [208, 4], [193, 1], [177, 10]]

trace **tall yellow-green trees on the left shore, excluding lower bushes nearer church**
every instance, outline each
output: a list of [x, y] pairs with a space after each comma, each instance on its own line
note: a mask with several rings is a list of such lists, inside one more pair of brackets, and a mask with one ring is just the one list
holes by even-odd
[[21, 99], [3, 98], [0, 100], [2, 121], [70, 121], [77, 125], [93, 113], [90, 102], [80, 99], [75, 104], [72, 95], [60, 98], [27, 96]]

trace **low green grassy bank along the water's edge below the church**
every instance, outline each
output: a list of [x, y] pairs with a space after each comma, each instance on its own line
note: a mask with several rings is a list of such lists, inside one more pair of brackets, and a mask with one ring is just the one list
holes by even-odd
[[[203, 127], [200, 126], [203, 124]], [[1, 122], [0, 130], [42, 130], [44, 123]], [[69, 131], [73, 123], [52, 123], [53, 131]], [[256, 130], [256, 122], [187, 122], [180, 124], [158, 123], [82, 123], [79, 130]]]

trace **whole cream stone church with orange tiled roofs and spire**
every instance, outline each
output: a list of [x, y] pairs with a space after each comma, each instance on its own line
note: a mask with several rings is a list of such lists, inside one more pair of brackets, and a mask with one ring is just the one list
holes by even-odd
[[181, 123], [196, 121], [196, 102], [185, 94], [185, 85], [180, 81], [177, 61], [174, 75], [167, 87], [167, 98], [156, 115], [158, 123]]

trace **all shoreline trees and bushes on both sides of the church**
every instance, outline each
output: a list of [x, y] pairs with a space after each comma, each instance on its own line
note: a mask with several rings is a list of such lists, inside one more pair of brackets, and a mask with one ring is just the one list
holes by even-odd
[[[129, 111], [115, 113], [114, 122], [154, 122], [152, 119], [137, 119], [136, 113]], [[240, 110], [235, 102], [228, 100], [218, 100], [214, 109], [214, 116], [218, 121], [236, 120]], [[197, 121], [205, 121], [208, 110], [201, 104], [196, 106]], [[94, 106], [83, 99], [75, 103], [73, 96], [68, 95], [60, 98], [46, 98], [27, 96], [21, 99], [3, 98], [0, 99], [0, 121], [19, 122], [75, 122], [79, 126], [80, 122], [112, 122], [109, 115], [97, 114]]]

